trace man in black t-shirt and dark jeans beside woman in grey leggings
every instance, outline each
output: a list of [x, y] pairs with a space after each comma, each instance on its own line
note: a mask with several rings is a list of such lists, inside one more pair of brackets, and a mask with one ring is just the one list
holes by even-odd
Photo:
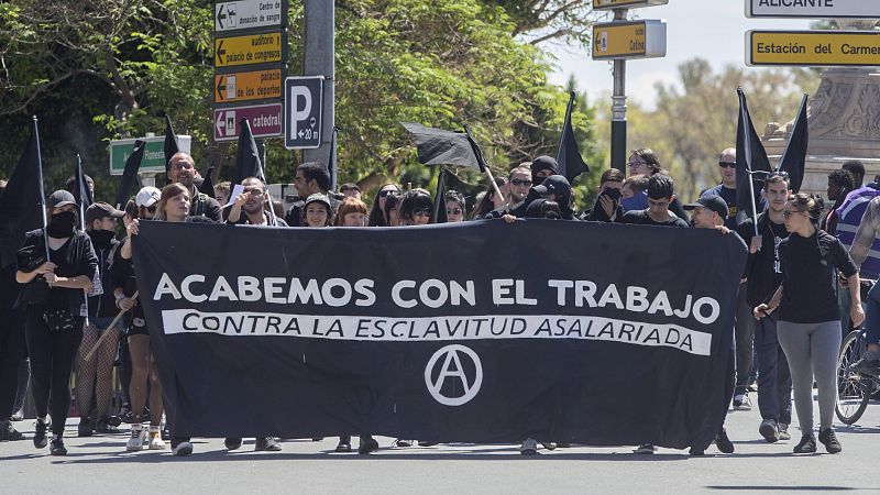
[[[783, 212], [789, 198], [788, 179], [771, 175], [765, 180], [763, 196], [767, 211], [758, 216], [758, 235], [755, 223], [748, 218], [739, 226], [739, 235], [749, 245], [746, 265], [746, 302], [755, 308], [767, 300], [782, 283], [779, 244], [789, 237]], [[741, 287], [740, 287], [741, 288]], [[741, 290], [740, 290], [741, 295]], [[737, 319], [739, 310], [737, 310]], [[790, 440], [791, 424], [791, 374], [785, 353], [779, 344], [777, 315], [761, 319], [752, 318], [755, 350], [758, 355], [758, 409], [761, 425], [758, 432], [768, 441]], [[741, 345], [737, 334], [737, 351]], [[737, 359], [740, 359], [737, 352]], [[741, 376], [737, 373], [737, 392], [743, 393]]]

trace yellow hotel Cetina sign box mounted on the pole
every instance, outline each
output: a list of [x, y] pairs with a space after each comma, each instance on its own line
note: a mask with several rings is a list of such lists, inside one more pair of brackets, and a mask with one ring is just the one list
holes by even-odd
[[663, 57], [667, 24], [663, 21], [609, 22], [593, 25], [593, 58]]

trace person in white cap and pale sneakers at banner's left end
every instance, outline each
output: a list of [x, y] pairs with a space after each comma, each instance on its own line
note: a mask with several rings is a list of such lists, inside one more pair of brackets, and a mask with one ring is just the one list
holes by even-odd
[[[175, 188], [173, 186], [166, 186], [165, 189], [173, 190]], [[128, 237], [120, 245], [120, 256], [113, 268], [113, 297], [116, 298], [116, 306], [131, 314], [131, 323], [127, 332], [132, 364], [131, 382], [129, 384], [132, 411], [131, 435], [125, 444], [125, 450], [129, 452], [136, 452], [143, 449], [144, 441], [146, 441], [150, 450], [165, 449], [165, 442], [162, 439], [161, 431], [162, 414], [164, 413], [162, 383], [158, 381], [158, 373], [154, 369], [155, 360], [150, 346], [150, 332], [146, 329], [146, 317], [143, 306], [134, 298], [138, 284], [134, 274], [131, 246], [131, 235], [138, 233], [140, 221], [155, 218], [165, 189], [160, 191], [155, 187], [144, 187], [138, 191], [134, 199], [138, 206], [138, 215], [127, 216], [133, 218], [123, 217], [123, 221], [127, 222], [125, 231]], [[187, 195], [183, 186], [177, 188], [177, 190], [180, 196]], [[150, 387], [150, 429], [145, 438], [143, 431], [143, 416], [147, 400], [147, 385]]]

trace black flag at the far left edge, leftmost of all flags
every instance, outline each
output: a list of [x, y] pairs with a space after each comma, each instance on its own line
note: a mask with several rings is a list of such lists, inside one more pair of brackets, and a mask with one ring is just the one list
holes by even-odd
[[40, 229], [45, 221], [37, 132], [34, 119], [31, 138], [0, 195], [0, 254], [3, 267], [15, 263], [15, 253], [24, 243], [24, 234]]

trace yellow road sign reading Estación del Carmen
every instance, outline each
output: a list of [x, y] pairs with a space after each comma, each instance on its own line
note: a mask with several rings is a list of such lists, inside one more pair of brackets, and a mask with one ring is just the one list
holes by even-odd
[[746, 64], [878, 66], [880, 33], [870, 31], [747, 31]]

